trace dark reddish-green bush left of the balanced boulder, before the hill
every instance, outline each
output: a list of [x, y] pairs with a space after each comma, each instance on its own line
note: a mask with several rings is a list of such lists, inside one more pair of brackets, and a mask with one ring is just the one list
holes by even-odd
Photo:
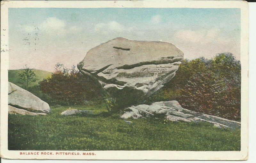
[[39, 82], [43, 93], [67, 104], [85, 104], [89, 100], [99, 101], [98, 86], [88, 77], [57, 63], [51, 78]]

